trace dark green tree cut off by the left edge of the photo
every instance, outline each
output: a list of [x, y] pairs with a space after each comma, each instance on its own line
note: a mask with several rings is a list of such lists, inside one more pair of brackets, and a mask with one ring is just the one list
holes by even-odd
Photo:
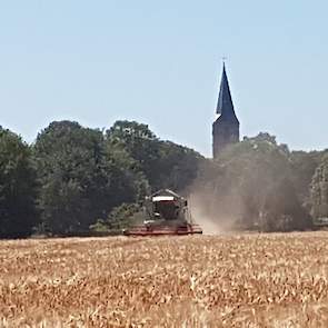
[[30, 149], [0, 127], [0, 237], [26, 237], [38, 223], [36, 171]]

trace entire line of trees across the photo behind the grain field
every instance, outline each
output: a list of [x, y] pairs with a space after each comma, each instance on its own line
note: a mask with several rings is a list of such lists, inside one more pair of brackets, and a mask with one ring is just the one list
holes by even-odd
[[0, 238], [118, 231], [160, 188], [190, 196], [220, 226], [311, 229], [328, 217], [328, 152], [259, 133], [211, 160], [136, 121], [106, 131], [54, 121], [32, 145], [0, 127]]

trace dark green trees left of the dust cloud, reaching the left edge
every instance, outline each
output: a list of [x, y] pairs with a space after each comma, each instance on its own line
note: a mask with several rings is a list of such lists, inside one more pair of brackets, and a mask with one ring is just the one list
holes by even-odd
[[135, 121], [54, 121], [32, 145], [0, 128], [0, 237], [117, 227], [151, 191], [186, 189], [201, 158]]

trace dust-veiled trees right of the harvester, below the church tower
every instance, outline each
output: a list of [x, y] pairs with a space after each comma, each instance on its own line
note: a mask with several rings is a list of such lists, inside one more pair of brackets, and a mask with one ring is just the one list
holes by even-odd
[[[206, 161], [196, 181], [202, 213], [222, 227], [305, 230], [328, 217], [328, 151], [290, 151], [259, 133]], [[219, 218], [219, 219], [217, 219]]]

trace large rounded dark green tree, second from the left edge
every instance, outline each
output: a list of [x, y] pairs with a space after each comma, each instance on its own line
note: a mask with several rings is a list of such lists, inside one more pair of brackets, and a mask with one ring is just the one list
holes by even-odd
[[86, 231], [115, 206], [136, 200], [136, 176], [120, 167], [99, 130], [52, 122], [39, 133], [33, 150], [39, 205], [52, 233]]

